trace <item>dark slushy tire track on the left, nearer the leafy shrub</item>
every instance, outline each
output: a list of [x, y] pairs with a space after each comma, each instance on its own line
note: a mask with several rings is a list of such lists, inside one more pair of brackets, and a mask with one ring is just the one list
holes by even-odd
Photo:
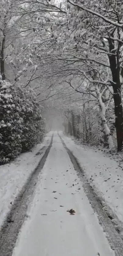
[[28, 203], [33, 196], [38, 174], [41, 172], [45, 164], [50, 148], [52, 147], [52, 141], [53, 135], [49, 146], [47, 147], [44, 155], [38, 163], [38, 166], [27, 179], [26, 184], [23, 186], [21, 192], [14, 201], [14, 204], [12, 205], [12, 208], [7, 214], [7, 217], [1, 227], [0, 256], [11, 256], [13, 254], [13, 248], [15, 246], [18, 233], [26, 218]]

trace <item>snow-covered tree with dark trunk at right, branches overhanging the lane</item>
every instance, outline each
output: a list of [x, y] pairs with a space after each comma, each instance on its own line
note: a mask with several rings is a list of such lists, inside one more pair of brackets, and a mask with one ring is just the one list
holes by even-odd
[[[97, 86], [98, 88], [102, 86], [103, 90], [106, 90], [104, 88], [106, 87], [109, 91], [112, 87], [117, 145], [120, 151], [123, 141], [122, 2], [118, 0], [105, 0], [103, 3], [100, 1], [97, 3], [95, 0], [91, 3], [90, 1], [85, 3], [85, 1], [72, 2], [70, 0], [67, 2], [66, 6], [60, 7], [63, 15], [58, 16], [57, 21], [55, 20], [56, 24], [52, 26], [52, 33], [49, 29], [49, 37], [54, 39], [54, 46], [45, 55], [45, 59], [50, 58], [56, 64], [54, 75], [67, 76], [73, 73], [75, 76], [78, 74], [81, 80], [84, 78], [89, 84], [93, 84], [95, 93], [97, 93]], [[62, 64], [58, 65], [60, 61]], [[104, 129], [104, 132], [106, 135], [108, 132], [108, 137], [110, 137], [109, 127]]]

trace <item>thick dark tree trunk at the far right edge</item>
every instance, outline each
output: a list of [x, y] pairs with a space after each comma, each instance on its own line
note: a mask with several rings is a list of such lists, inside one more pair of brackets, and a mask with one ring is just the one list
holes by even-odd
[[[112, 35], [113, 36], [113, 35]], [[110, 53], [114, 50], [114, 42], [112, 39], [109, 38], [109, 49]], [[117, 147], [118, 151], [122, 150], [122, 143], [123, 143], [123, 109], [121, 103], [121, 82], [120, 82], [120, 64], [119, 64], [119, 53], [117, 56], [109, 55], [110, 61], [110, 69], [112, 72], [113, 78], [113, 98], [114, 98], [114, 112], [115, 112], [115, 127], [116, 127], [116, 134], [117, 134]]]

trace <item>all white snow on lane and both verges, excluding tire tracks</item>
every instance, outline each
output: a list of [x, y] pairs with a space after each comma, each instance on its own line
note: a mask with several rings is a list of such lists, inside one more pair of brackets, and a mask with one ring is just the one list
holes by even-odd
[[[114, 256], [97, 215], [82, 188], [67, 151], [57, 132], [50, 132], [32, 152], [0, 166], [0, 225], [42, 155], [36, 153], [53, 145], [38, 176], [34, 197], [28, 206], [13, 256]], [[123, 222], [123, 173], [116, 160], [93, 148], [77, 145], [59, 132], [67, 148], [78, 159], [91, 185]], [[122, 166], [121, 166], [122, 167]], [[73, 186], [74, 182], [76, 185]], [[80, 189], [81, 188], [81, 189]], [[75, 210], [74, 215], [67, 212]]]

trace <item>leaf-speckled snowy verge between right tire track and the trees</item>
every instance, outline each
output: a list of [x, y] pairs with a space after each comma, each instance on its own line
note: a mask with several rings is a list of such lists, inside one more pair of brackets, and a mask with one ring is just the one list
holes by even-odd
[[89, 182], [123, 222], [123, 166], [120, 168], [116, 160], [98, 150], [75, 144], [71, 137], [64, 136], [62, 132], [60, 135], [85, 170]]

